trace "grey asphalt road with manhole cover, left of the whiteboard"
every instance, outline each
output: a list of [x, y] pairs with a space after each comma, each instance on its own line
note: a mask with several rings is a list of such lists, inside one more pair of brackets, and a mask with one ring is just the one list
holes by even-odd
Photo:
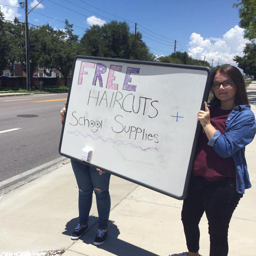
[[0, 97], [0, 182], [60, 157], [60, 110], [67, 96]]

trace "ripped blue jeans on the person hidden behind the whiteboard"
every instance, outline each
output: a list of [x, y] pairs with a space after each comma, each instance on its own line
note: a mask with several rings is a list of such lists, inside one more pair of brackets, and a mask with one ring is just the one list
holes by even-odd
[[71, 159], [71, 165], [79, 188], [79, 223], [87, 225], [95, 192], [98, 209], [98, 228], [107, 229], [110, 214], [110, 194], [108, 192], [110, 174], [100, 173], [96, 168]]

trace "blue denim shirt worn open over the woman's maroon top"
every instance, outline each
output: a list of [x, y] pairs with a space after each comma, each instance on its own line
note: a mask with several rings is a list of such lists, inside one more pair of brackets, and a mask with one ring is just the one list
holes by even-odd
[[[215, 105], [214, 102], [210, 104], [210, 108]], [[251, 107], [236, 106], [226, 119], [225, 125], [225, 133], [221, 134], [216, 130], [208, 145], [222, 158], [232, 156], [236, 167], [236, 192], [244, 194], [245, 189], [251, 187], [245, 160], [245, 146], [252, 142], [256, 133], [256, 121]]]

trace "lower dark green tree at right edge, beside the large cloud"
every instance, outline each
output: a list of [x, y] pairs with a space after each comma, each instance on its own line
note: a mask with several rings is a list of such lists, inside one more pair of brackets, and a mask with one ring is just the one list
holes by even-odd
[[244, 57], [235, 56], [233, 60], [246, 75], [252, 75], [256, 80], [256, 43], [245, 44]]

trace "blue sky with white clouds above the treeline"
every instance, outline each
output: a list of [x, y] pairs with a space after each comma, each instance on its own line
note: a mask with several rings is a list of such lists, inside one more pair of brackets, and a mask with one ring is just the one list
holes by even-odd
[[[0, 0], [7, 20], [12, 20], [14, 16], [25, 18], [25, 11], [15, 8], [19, 7], [20, 1]], [[64, 23], [54, 18], [61, 21], [66, 18], [70, 23], [87, 29], [94, 23], [102, 25], [111, 20], [127, 20], [131, 31], [134, 31], [135, 22], [138, 24], [137, 29], [143, 34], [143, 40], [158, 56], [174, 52], [174, 40], [177, 40], [176, 50], [186, 50], [194, 58], [204, 59], [206, 56], [209, 62], [213, 59], [213, 65], [232, 64], [233, 56], [242, 55], [247, 42], [243, 39], [243, 30], [239, 28], [238, 9], [232, 8], [234, 1], [44, 0], [28, 15], [28, 21], [34, 25], [48, 22], [55, 29], [62, 29]], [[29, 9], [36, 3], [37, 0], [28, 0]], [[74, 27], [74, 32], [82, 37], [84, 29]]]

